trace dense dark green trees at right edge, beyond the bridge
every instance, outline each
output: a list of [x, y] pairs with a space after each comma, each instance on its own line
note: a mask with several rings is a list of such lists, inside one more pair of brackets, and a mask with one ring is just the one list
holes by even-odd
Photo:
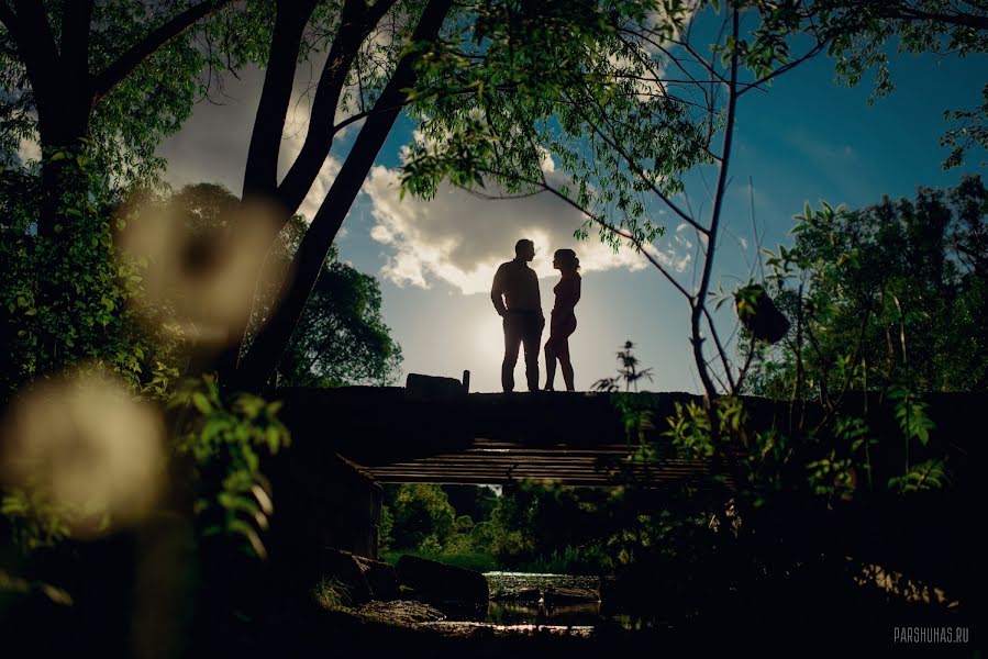
[[986, 214], [979, 177], [950, 190], [920, 188], [914, 201], [808, 206], [793, 247], [768, 260], [802, 339], [790, 333], [756, 362], [751, 390], [828, 406], [848, 388], [984, 391]]

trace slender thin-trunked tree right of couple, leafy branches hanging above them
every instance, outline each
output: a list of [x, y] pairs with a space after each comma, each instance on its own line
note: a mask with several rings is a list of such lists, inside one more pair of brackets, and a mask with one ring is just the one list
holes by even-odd
[[[495, 183], [500, 191], [492, 196], [547, 192], [585, 214], [579, 237], [596, 226], [615, 248], [637, 249], [686, 300], [697, 371], [714, 396], [736, 391], [743, 370], [708, 308], [739, 101], [825, 43], [813, 41], [791, 55], [784, 37], [793, 27], [774, 21], [773, 9], [761, 3], [693, 9], [676, 4], [606, 23], [587, 48], [608, 57], [577, 56], [588, 68], [555, 76], [533, 65], [537, 97], [493, 90], [458, 105], [437, 99], [428, 114], [442, 119], [423, 122], [424, 139], [403, 166], [403, 182], [424, 196], [434, 194], [443, 178], [474, 189]], [[545, 62], [571, 53], [552, 25], [523, 25], [530, 32], [519, 38], [547, 44]], [[748, 43], [744, 34], [758, 40]], [[552, 172], [543, 167], [547, 157], [555, 161]], [[714, 180], [702, 215], [676, 200], [690, 170]], [[685, 223], [703, 246], [696, 284], [682, 281], [652, 245], [664, 231], [655, 220], [659, 212]]]

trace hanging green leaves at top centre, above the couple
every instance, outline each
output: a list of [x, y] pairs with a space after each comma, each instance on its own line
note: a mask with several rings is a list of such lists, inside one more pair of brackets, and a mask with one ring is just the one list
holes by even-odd
[[[707, 159], [711, 118], [695, 123], [686, 104], [647, 85], [647, 36], [625, 26], [662, 16], [655, 31], [669, 36], [689, 13], [674, 5], [492, 3], [473, 33], [449, 35], [422, 65], [413, 107], [421, 139], [403, 164], [404, 187], [426, 198], [444, 178], [474, 189], [496, 183], [495, 196], [546, 188], [591, 216], [611, 213], [640, 239], [660, 235], [642, 193], [681, 190], [681, 172]], [[479, 59], [474, 44], [484, 47], [480, 66], [459, 70]]]

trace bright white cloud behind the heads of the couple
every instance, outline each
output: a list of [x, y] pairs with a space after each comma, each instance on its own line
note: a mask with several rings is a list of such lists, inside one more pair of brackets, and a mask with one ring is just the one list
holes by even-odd
[[[488, 291], [497, 267], [513, 258], [514, 243], [523, 237], [535, 243], [532, 267], [540, 277], [557, 276], [552, 255], [559, 248], [575, 249], [585, 273], [650, 267], [633, 249], [615, 254], [596, 236], [574, 238], [584, 215], [547, 193], [489, 200], [443, 185], [432, 201], [408, 194], [401, 199], [398, 171], [382, 166], [370, 171], [364, 192], [375, 220], [370, 237], [389, 249], [381, 275], [399, 286], [429, 288], [442, 280], [465, 294]], [[650, 253], [681, 272], [691, 256], [665, 243], [650, 246]]]

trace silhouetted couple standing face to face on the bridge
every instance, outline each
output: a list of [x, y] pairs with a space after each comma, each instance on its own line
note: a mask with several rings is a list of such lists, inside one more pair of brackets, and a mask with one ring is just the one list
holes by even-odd
[[[525, 379], [529, 391], [539, 391], [539, 342], [545, 327], [539, 278], [529, 261], [535, 258], [535, 244], [522, 238], [514, 245], [514, 260], [501, 264], [490, 288], [490, 299], [504, 327], [504, 360], [501, 362], [501, 387], [514, 391], [514, 366], [519, 348], [525, 348]], [[553, 267], [562, 278], [553, 289], [555, 305], [545, 342], [545, 390], [553, 391], [556, 361], [563, 371], [566, 391], [573, 391], [573, 362], [569, 359], [569, 335], [576, 332], [574, 308], [580, 299], [580, 261], [573, 249], [557, 249]]]

